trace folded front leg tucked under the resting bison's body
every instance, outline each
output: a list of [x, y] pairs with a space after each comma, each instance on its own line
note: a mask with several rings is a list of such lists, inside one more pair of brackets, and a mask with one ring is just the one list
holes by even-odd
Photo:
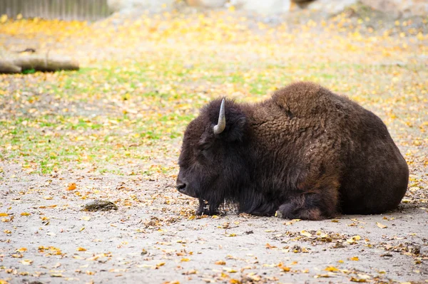
[[325, 204], [320, 194], [302, 194], [282, 204], [276, 216], [284, 219], [322, 220], [332, 217], [335, 214], [334, 208], [333, 204]]

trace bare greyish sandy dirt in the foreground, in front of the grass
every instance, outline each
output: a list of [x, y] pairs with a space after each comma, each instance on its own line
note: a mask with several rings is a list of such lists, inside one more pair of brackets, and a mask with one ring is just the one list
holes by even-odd
[[[325, 221], [188, 215], [173, 179], [63, 172], [27, 175], [0, 164], [1, 277], [9, 283], [423, 283], [428, 209]], [[88, 212], [67, 185], [125, 204]], [[83, 192], [82, 192], [83, 193]], [[28, 216], [22, 216], [29, 214]], [[3, 233], [3, 232], [2, 232]], [[24, 248], [26, 248], [24, 250]], [[177, 282], [178, 281], [178, 282]]]

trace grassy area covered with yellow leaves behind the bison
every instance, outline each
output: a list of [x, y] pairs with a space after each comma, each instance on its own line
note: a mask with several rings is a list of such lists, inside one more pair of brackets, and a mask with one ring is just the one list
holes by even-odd
[[[218, 37], [215, 21], [205, 26], [208, 38]], [[241, 25], [225, 33], [225, 42], [206, 43], [188, 43], [181, 39], [188, 31], [180, 30], [169, 34], [173, 46], [151, 35], [147, 44], [156, 51], [136, 53], [142, 38], [129, 39], [117, 58], [91, 59], [95, 63], [78, 71], [0, 75], [0, 159], [42, 174], [90, 164], [100, 173], [173, 175], [185, 126], [206, 102], [223, 96], [258, 102], [297, 80], [315, 81], [360, 102], [403, 145], [412, 145], [409, 135], [420, 143], [415, 151], [426, 145], [427, 70], [414, 56], [427, 53], [427, 36], [361, 36], [312, 26], [295, 33], [266, 28], [248, 41], [230, 39], [240, 35]], [[315, 41], [323, 44], [313, 46]], [[103, 45], [91, 40], [88, 48], [98, 44]]]

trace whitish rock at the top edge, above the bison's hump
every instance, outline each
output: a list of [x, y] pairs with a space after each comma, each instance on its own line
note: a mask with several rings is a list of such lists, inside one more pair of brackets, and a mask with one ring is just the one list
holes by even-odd
[[290, 11], [291, 0], [236, 0], [235, 6], [261, 14], [280, 14]]

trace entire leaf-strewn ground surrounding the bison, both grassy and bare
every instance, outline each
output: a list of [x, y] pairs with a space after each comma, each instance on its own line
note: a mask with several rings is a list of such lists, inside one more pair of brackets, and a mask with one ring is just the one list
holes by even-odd
[[[351, 12], [293, 18], [305, 23], [298, 30], [277, 28], [279, 18], [228, 26], [225, 14], [172, 27], [113, 18], [93, 25], [111, 28], [101, 36], [81, 23], [0, 26], [9, 53], [51, 48], [83, 67], [0, 75], [0, 284], [428, 283], [427, 21]], [[174, 189], [191, 115], [211, 98], [262, 100], [295, 80], [350, 95], [384, 120], [411, 172], [402, 204], [325, 221], [227, 206], [225, 216], [194, 216], [196, 201]], [[118, 210], [82, 210], [96, 199]]]

